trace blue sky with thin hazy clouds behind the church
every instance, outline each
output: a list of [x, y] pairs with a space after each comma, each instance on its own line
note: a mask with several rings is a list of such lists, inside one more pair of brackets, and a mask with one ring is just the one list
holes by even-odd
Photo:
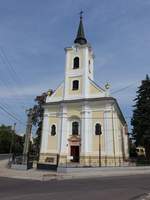
[[150, 74], [149, 0], [0, 0], [0, 124], [25, 132], [37, 95], [64, 80], [65, 51], [83, 10], [94, 54], [94, 80], [111, 85], [131, 130], [136, 90]]

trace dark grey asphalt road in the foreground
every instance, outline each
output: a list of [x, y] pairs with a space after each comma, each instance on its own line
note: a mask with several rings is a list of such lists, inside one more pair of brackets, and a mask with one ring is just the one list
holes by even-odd
[[0, 200], [136, 200], [150, 193], [150, 175], [80, 180], [0, 178]]

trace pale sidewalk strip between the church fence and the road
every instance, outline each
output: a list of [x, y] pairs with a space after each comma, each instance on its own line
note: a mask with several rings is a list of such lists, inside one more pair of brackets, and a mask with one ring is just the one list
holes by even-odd
[[[150, 166], [147, 167], [101, 167], [101, 168], [65, 168], [59, 172], [30, 169], [27, 171], [8, 169], [7, 162], [0, 162], [0, 177], [28, 179], [28, 180], [64, 180], [94, 177], [129, 176], [137, 174], [150, 174]], [[65, 172], [66, 171], [66, 172]]]

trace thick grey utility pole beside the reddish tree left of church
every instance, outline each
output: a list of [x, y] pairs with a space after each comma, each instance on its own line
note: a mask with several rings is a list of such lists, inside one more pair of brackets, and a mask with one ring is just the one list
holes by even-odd
[[23, 149], [23, 164], [27, 164], [28, 161], [28, 153], [29, 153], [29, 144], [31, 138], [31, 130], [32, 130], [32, 116], [33, 110], [30, 108], [27, 110], [27, 125], [26, 125], [26, 134], [25, 134], [25, 142]]

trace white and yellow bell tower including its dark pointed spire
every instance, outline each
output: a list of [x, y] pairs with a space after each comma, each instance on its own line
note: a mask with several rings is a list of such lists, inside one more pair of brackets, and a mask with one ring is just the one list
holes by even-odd
[[64, 99], [88, 98], [90, 80], [93, 80], [93, 51], [84, 34], [83, 12], [72, 47], [65, 48]]

